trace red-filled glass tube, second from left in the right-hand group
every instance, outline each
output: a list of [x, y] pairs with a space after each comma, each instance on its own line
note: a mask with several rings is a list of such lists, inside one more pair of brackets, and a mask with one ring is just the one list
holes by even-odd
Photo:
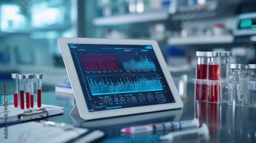
[[208, 78], [208, 95], [207, 101], [212, 103], [219, 102], [219, 65], [220, 65], [220, 53], [219, 52], [207, 52], [207, 78]]

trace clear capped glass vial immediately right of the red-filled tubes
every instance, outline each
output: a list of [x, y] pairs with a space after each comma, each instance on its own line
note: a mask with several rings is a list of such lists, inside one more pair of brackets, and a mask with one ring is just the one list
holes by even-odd
[[241, 69], [243, 64], [230, 64], [231, 73], [228, 76], [228, 104], [243, 106], [244, 76]]

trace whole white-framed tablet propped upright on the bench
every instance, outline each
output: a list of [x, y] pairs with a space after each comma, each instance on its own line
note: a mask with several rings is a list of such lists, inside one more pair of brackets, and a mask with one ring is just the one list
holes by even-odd
[[154, 40], [59, 38], [84, 120], [183, 107]]

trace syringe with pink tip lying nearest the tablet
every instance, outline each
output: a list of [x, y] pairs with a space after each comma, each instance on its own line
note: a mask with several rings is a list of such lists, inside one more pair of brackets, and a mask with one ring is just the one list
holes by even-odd
[[194, 118], [194, 120], [164, 122], [164, 123], [125, 127], [125, 128], [122, 128], [120, 131], [124, 133], [144, 133], [144, 132], [150, 132], [150, 131], [158, 131], [162, 129], [177, 129], [177, 128], [185, 128], [185, 127], [199, 127], [198, 119]]

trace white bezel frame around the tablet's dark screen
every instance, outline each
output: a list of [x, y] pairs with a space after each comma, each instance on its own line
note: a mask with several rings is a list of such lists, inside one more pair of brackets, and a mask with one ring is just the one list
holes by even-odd
[[[65, 66], [68, 72], [70, 83], [74, 92], [74, 97], [76, 100], [76, 105], [81, 118], [84, 120], [93, 120], [97, 118], [161, 111], [168, 109], [176, 109], [183, 107], [179, 92], [174, 84], [174, 80], [169, 73], [166, 62], [160, 51], [158, 43], [154, 40], [134, 40], [134, 39], [92, 39], [92, 38], [59, 38], [58, 43], [60, 46], [60, 51], [65, 62]], [[119, 108], [111, 110], [101, 110], [89, 112], [86, 99], [83, 96], [82, 87], [78, 79], [77, 71], [69, 50], [69, 43], [71, 44], [121, 44], [121, 45], [152, 45], [159, 64], [162, 68], [164, 77], [170, 87], [170, 91], [173, 93], [175, 103], [166, 103], [159, 105], [148, 105], [130, 108]]]

